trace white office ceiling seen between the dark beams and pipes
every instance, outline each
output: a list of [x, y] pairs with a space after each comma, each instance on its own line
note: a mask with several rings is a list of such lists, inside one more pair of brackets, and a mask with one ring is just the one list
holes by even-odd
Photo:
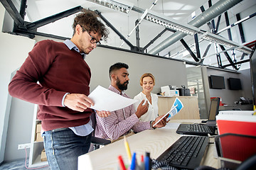
[[[102, 0], [104, 1], [104, 0]], [[117, 0], [119, 2], [124, 2], [128, 4], [133, 4], [137, 8], [139, 8], [140, 11], [146, 10], [146, 8], [151, 8], [152, 11], [155, 11], [157, 13], [161, 13], [161, 15], [168, 16], [169, 18], [173, 18], [181, 23], [189, 23], [192, 20], [191, 14], [195, 12], [196, 16], [200, 16], [201, 6], [203, 6], [206, 10], [209, 8], [208, 0], [200, 0], [200, 1], [191, 1], [191, 0]], [[218, 0], [212, 0], [210, 1], [212, 5], [214, 5]], [[18, 4], [21, 3], [21, 0], [14, 1], [14, 5], [18, 6]], [[155, 4], [154, 4], [155, 3]], [[154, 4], [154, 5], [153, 5]], [[240, 13], [241, 11], [245, 10], [246, 8], [250, 8], [250, 6], [254, 6], [256, 4], [256, 1], [252, 0], [244, 0], [241, 1], [238, 5], [233, 6], [230, 10], [228, 10], [228, 14], [230, 18], [233, 18], [236, 13]], [[142, 13], [138, 11], [130, 11], [127, 13], [122, 13], [120, 11], [114, 11], [111, 8], [107, 8], [105, 6], [100, 6], [98, 4], [92, 3], [91, 1], [85, 1], [85, 0], [27, 0], [27, 8], [26, 8], [26, 16], [25, 21], [28, 22], [34, 22], [41, 20], [42, 18], [46, 18], [48, 16], [53, 16], [56, 13], [60, 13], [63, 11], [66, 11], [70, 8], [74, 8], [76, 6], [82, 6], [83, 8], [90, 9], [92, 11], [100, 11], [102, 16], [104, 16], [107, 21], [109, 21], [114, 28], [116, 28], [119, 33], [121, 33], [129, 42], [132, 43], [132, 45], [137, 46], [136, 41], [136, 31], [134, 30], [135, 27], [135, 21], [140, 20]], [[251, 14], [251, 13], [250, 13]], [[66, 38], [71, 38], [73, 34], [72, 30], [72, 23], [73, 18], [75, 14], [61, 18], [58, 21], [55, 21], [53, 23], [49, 23], [46, 26], [41, 26], [37, 29], [38, 32], [41, 33], [47, 33], [52, 35], [59, 35]], [[217, 18], [215, 18], [215, 23], [217, 22]], [[234, 19], [230, 20], [230, 24], [234, 23]], [[220, 28], [225, 28], [225, 18], [224, 15], [222, 15], [222, 18], [220, 19]], [[200, 27], [201, 30], [209, 31], [209, 27], [207, 24], [204, 24]], [[121, 47], [127, 50], [131, 50], [129, 45], [127, 43], [124, 43], [123, 40], [119, 38], [119, 35], [117, 33], [114, 33], [114, 31], [109, 28], [110, 30], [110, 36], [107, 42], [102, 42], [102, 45], [108, 45], [112, 47]], [[132, 30], [134, 30], [132, 32]], [[153, 40], [161, 31], [164, 30], [163, 26], [159, 26], [156, 23], [151, 23], [149, 21], [142, 21], [139, 24], [139, 47], [144, 47], [147, 45], [151, 40]], [[169, 38], [169, 36], [173, 35], [174, 33], [171, 31], [164, 32], [161, 37], [157, 38], [157, 40], [154, 41], [153, 44], [149, 45], [149, 47], [146, 49], [146, 52], [149, 52], [150, 50], [154, 50], [157, 45], [161, 44], [166, 38]], [[129, 35], [129, 37], [127, 37]], [[228, 36], [226, 36], [228, 38]], [[255, 38], [256, 39], [256, 38]], [[188, 44], [189, 47], [191, 47], [191, 50], [196, 54], [196, 47], [195, 47], [195, 40], [194, 37], [191, 35], [186, 35], [183, 40]], [[209, 42], [201, 42], [199, 41], [199, 45], [201, 48], [201, 55], [203, 55], [203, 52], [205, 52], [206, 47]], [[241, 42], [238, 42], [241, 44]], [[192, 45], [192, 46], [191, 46]], [[211, 45], [212, 49], [209, 50], [208, 55], [209, 56], [206, 60], [204, 60], [203, 64], [209, 64], [213, 66], [218, 67], [218, 63], [215, 57], [215, 49], [214, 45]], [[184, 55], [181, 54], [182, 52], [185, 52]], [[173, 57], [178, 60], [186, 60], [195, 62], [193, 60], [193, 57], [189, 55], [186, 48], [181, 44], [180, 41], [177, 41], [173, 43], [172, 45], [165, 47], [164, 50], [161, 50], [161, 52], [158, 52], [160, 56], [165, 57]], [[223, 55], [223, 54], [222, 54]], [[230, 54], [231, 55], [231, 54]], [[241, 54], [238, 52], [238, 55], [241, 57]], [[246, 57], [245, 57], [246, 59]], [[227, 59], [224, 59], [227, 64], [229, 62]]]

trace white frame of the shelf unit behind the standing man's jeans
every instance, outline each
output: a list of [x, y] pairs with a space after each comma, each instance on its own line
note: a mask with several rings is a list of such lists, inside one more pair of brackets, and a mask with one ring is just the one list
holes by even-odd
[[31, 134], [31, 149], [29, 154], [29, 167], [36, 166], [46, 166], [47, 161], [41, 162], [41, 152], [43, 150], [43, 141], [36, 142], [36, 126], [41, 123], [41, 120], [37, 119], [38, 105], [35, 105], [34, 114], [33, 114], [33, 125], [32, 125], [32, 134]]

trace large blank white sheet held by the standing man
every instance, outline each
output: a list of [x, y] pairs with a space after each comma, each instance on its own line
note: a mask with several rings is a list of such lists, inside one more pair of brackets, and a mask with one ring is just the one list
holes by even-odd
[[126, 98], [102, 86], [97, 86], [88, 97], [95, 103], [95, 106], [91, 108], [97, 111], [117, 111], [137, 102], [137, 100]]

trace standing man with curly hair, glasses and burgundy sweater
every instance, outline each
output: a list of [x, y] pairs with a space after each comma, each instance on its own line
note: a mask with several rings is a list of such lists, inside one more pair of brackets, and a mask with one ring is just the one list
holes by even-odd
[[94, 103], [87, 97], [91, 72], [85, 55], [108, 33], [95, 13], [82, 11], [75, 17], [73, 38], [36, 43], [9, 84], [11, 96], [38, 104], [50, 169], [78, 169], [78, 156], [88, 152]]

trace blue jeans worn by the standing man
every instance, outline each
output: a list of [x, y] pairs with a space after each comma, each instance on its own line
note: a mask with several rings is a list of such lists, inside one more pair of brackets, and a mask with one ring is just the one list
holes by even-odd
[[78, 169], [78, 157], [88, 152], [91, 137], [92, 134], [85, 137], [75, 135], [70, 128], [43, 132], [43, 144], [50, 169]]

